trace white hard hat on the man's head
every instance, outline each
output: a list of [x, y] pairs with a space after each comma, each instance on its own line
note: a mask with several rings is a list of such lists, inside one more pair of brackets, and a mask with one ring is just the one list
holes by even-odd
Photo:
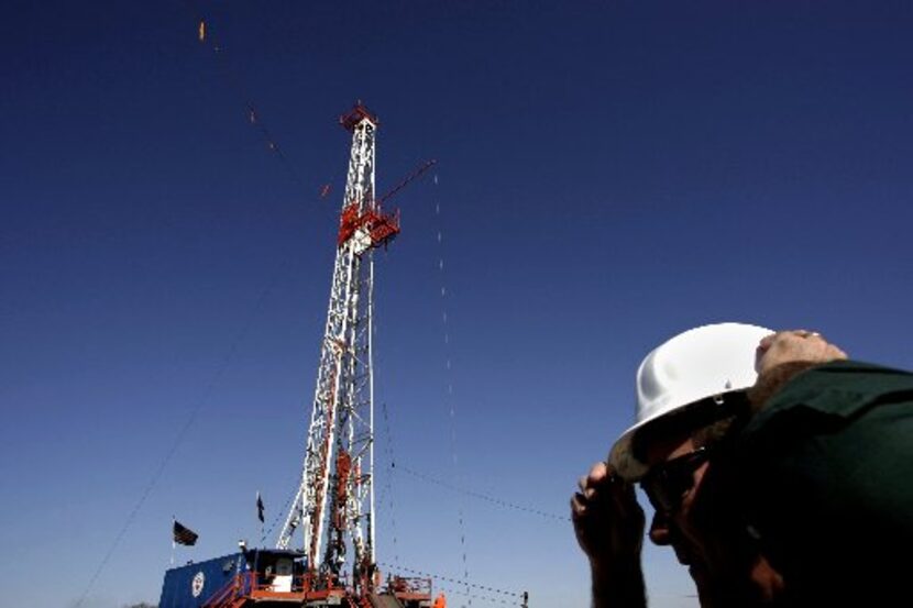
[[637, 480], [647, 466], [631, 453], [645, 424], [673, 411], [755, 384], [755, 354], [771, 330], [744, 323], [703, 325], [680, 333], [647, 355], [637, 371], [637, 423], [618, 438], [608, 455], [623, 478]]

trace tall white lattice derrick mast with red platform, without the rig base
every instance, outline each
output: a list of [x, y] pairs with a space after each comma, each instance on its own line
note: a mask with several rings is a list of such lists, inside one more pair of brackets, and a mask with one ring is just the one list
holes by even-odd
[[301, 483], [276, 546], [297, 546], [300, 534], [308, 572], [334, 577], [351, 568], [362, 595], [376, 584], [373, 251], [399, 233], [399, 218], [374, 196], [376, 117], [359, 102], [340, 124], [352, 133], [352, 148], [327, 325]]

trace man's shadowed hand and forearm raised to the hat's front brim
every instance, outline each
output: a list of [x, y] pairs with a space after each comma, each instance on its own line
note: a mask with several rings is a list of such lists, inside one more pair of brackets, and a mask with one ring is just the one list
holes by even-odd
[[594, 608], [646, 608], [640, 549], [644, 510], [634, 486], [596, 463], [571, 498], [578, 542], [590, 559]]

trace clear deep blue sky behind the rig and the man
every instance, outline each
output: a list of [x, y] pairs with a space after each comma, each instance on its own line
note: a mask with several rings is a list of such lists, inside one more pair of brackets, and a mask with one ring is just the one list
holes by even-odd
[[[172, 515], [200, 533], [178, 560], [258, 538], [256, 490], [275, 517], [329, 294], [334, 121], [363, 99], [380, 192], [439, 161], [377, 256], [380, 557], [460, 578], [465, 554], [474, 583], [585, 606], [570, 523], [386, 454], [563, 515], [673, 333], [813, 328], [913, 367], [911, 26], [909, 2], [9, 3], [7, 601], [73, 606], [112, 546], [82, 606], [155, 601]], [[696, 606], [670, 555], [646, 561], [651, 606]]]

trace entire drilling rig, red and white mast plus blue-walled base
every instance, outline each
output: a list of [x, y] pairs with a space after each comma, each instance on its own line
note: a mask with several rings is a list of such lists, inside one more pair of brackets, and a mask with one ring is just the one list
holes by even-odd
[[398, 211], [385, 212], [382, 203], [435, 162], [376, 199], [377, 118], [359, 102], [339, 120], [352, 148], [295, 499], [275, 549], [242, 544], [239, 553], [167, 571], [160, 608], [431, 607], [430, 578], [384, 581], [377, 567], [372, 336], [374, 250], [399, 234]]

